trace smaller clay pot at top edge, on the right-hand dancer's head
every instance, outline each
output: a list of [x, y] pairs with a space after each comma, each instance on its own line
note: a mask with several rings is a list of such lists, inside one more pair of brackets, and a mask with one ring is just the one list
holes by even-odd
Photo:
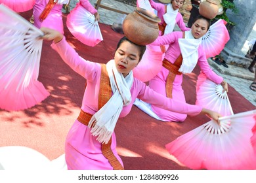
[[199, 13], [205, 18], [213, 19], [219, 12], [219, 5], [215, 0], [206, 0], [200, 3]]

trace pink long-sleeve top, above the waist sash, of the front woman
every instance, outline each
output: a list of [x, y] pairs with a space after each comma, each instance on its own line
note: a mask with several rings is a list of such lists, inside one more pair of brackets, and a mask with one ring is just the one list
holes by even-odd
[[[81, 58], [74, 48], [72, 48], [65, 38], [58, 43], [53, 43], [52, 48], [60, 54], [61, 58], [79, 75], [87, 80], [87, 87], [83, 95], [81, 109], [89, 114], [95, 114], [98, 111], [98, 92], [100, 86], [100, 63], [85, 60]], [[83, 85], [83, 84], [81, 84]], [[172, 110], [191, 116], [197, 115], [202, 111], [202, 107], [196, 105], [189, 105], [174, 99], [168, 99], [159, 93], [154, 92], [144, 82], [134, 78], [133, 86], [131, 87], [132, 101], [129, 105], [124, 106], [120, 117], [126, 116], [131, 111], [133, 102], [136, 98], [156, 105], [166, 110]]]

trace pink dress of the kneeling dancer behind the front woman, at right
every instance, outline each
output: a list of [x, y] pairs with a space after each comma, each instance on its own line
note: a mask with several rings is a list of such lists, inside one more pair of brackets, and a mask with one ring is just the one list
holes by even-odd
[[[169, 44], [169, 48], [165, 52], [165, 59], [167, 59], [171, 63], [174, 63], [175, 60], [181, 54], [181, 50], [178, 42], [178, 39], [180, 38], [182, 38], [182, 32], [175, 31], [167, 35], [158, 37], [158, 39], [156, 39], [156, 41], [154, 41], [152, 44], [153, 45]], [[205, 57], [205, 54], [201, 46], [199, 46], [198, 48], [197, 64], [199, 65], [203, 73], [205, 73], [207, 78], [209, 78], [216, 84], [220, 84], [223, 81], [223, 78], [221, 76], [218, 76], [216, 73], [214, 73], [209, 67], [209, 64], [207, 62], [207, 59]], [[165, 69], [165, 67], [162, 67], [160, 73], [158, 73], [158, 75], [156, 75], [154, 78], [152, 78], [152, 80], [150, 80], [149, 82], [150, 88], [160, 93], [161, 95], [166, 96], [165, 83], [166, 83], [168, 74], [169, 74], [169, 71]], [[173, 81], [172, 95], [173, 95], [173, 99], [185, 102], [186, 100], [185, 100], [184, 91], [182, 90], [181, 84], [182, 84], [182, 75], [176, 75], [175, 80]], [[182, 122], [186, 119], [186, 116], [187, 116], [186, 114], [180, 114], [174, 111], [165, 110], [154, 104], [152, 104], [151, 107], [153, 112], [156, 115], [158, 115], [162, 120], [167, 122], [171, 122], [171, 121]]]

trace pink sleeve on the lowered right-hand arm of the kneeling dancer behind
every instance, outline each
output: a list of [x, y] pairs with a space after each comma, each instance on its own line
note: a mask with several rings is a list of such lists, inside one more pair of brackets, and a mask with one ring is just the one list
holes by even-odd
[[213, 72], [213, 70], [209, 66], [209, 63], [206, 59], [206, 56], [205, 56], [201, 46], [198, 49], [198, 52], [199, 52], [198, 65], [199, 65], [200, 69], [203, 71], [203, 73], [205, 73], [205, 75], [207, 76], [207, 78], [209, 78], [209, 80], [212, 80], [216, 84], [221, 84], [221, 82], [223, 82], [223, 77], [221, 77], [221, 76], [217, 75], [215, 72]]

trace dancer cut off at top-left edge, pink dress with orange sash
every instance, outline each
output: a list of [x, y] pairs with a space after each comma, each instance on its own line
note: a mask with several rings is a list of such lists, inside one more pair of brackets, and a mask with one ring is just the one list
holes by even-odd
[[[68, 4], [69, 1], [70, 0], [36, 0], [33, 7], [33, 19], [35, 27], [49, 27], [64, 34], [62, 5]], [[91, 5], [89, 0], [80, 0], [79, 3], [89, 12], [91, 12], [91, 14], [94, 14], [97, 21], [100, 20], [100, 15]]]

